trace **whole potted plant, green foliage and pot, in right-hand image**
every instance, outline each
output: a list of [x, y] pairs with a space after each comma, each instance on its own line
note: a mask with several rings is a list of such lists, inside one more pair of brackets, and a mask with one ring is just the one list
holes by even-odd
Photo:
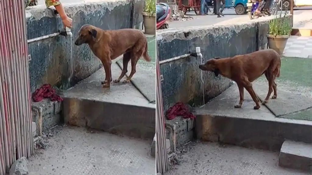
[[268, 45], [270, 49], [275, 50], [278, 54], [283, 54], [287, 40], [290, 36], [292, 26], [289, 18], [286, 16], [287, 11], [282, 16], [275, 17], [269, 22]]

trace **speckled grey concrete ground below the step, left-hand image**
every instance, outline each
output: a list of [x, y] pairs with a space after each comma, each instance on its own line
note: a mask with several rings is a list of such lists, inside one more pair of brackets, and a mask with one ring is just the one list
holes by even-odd
[[151, 175], [156, 171], [155, 158], [149, 155], [150, 140], [64, 127], [48, 145], [29, 158], [29, 174]]

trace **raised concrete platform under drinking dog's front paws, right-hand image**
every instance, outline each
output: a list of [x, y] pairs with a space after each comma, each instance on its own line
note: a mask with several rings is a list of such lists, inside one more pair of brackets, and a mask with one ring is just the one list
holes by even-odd
[[[285, 139], [311, 143], [312, 122], [275, 117], [266, 106], [254, 110], [254, 102], [245, 91], [242, 108], [236, 85], [211, 102], [196, 108], [196, 135], [206, 141], [220, 141], [244, 147], [280, 150]], [[273, 101], [271, 101], [273, 103]]]

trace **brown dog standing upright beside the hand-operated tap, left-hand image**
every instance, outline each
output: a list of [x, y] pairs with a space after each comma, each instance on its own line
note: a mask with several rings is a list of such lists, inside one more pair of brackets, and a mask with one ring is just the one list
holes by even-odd
[[131, 60], [131, 73], [124, 80], [129, 83], [135, 73], [135, 66], [141, 56], [146, 61], [151, 58], [147, 53], [147, 40], [145, 35], [136, 29], [120, 29], [120, 30], [102, 30], [95, 26], [84, 25], [79, 30], [79, 36], [75, 41], [75, 45], [87, 43], [92, 52], [97, 56], [105, 69], [105, 81], [102, 82], [103, 87], [110, 87], [112, 81], [111, 69], [113, 59], [123, 54], [123, 70], [115, 83], [120, 82], [121, 78], [128, 72], [128, 63]]

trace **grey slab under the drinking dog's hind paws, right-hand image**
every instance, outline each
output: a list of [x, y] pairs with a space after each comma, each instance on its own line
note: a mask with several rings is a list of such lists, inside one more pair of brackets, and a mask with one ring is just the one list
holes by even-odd
[[[268, 93], [268, 84], [254, 83], [254, 91], [257, 96], [263, 101]], [[273, 93], [272, 93], [273, 95]], [[271, 95], [271, 97], [272, 97]], [[302, 96], [301, 94], [289, 93], [277, 89], [277, 98], [271, 99], [265, 106], [276, 116], [302, 111], [312, 107], [312, 99]]]

